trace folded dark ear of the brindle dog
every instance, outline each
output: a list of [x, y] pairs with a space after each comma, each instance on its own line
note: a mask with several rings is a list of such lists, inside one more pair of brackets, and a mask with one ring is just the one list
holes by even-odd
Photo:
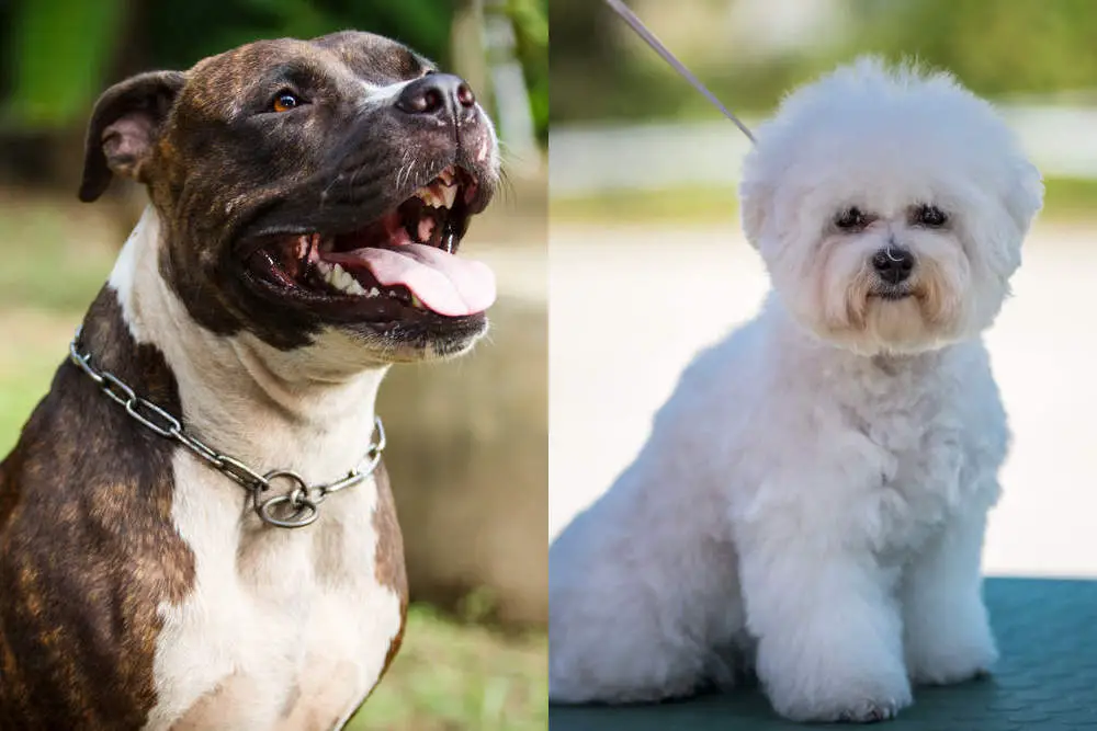
[[114, 173], [145, 182], [142, 168], [185, 79], [180, 71], [149, 71], [103, 92], [88, 124], [81, 201], [99, 198]]

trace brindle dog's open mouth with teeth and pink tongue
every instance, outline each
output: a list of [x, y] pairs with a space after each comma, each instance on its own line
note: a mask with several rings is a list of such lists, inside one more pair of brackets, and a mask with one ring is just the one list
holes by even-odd
[[476, 315], [495, 301], [495, 275], [456, 255], [476, 190], [471, 173], [450, 165], [359, 230], [276, 237], [249, 262], [268, 282], [299, 296], [358, 305], [377, 316], [392, 316], [394, 306]]

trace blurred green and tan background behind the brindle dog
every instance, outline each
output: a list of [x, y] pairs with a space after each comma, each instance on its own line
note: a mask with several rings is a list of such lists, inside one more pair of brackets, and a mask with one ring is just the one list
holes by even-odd
[[395, 368], [382, 388], [415, 603], [400, 654], [350, 728], [543, 729], [547, 0], [0, 2], [0, 456], [145, 205], [118, 180], [94, 205], [77, 202], [98, 95], [249, 41], [344, 28], [468, 79], [508, 178], [462, 247], [496, 271], [490, 342], [455, 363]]

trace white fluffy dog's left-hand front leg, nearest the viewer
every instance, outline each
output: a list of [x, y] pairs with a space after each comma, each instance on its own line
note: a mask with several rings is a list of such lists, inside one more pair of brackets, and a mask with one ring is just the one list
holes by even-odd
[[[757, 673], [796, 721], [878, 721], [912, 701], [894, 571], [848, 524], [781, 509], [738, 532]], [[798, 515], [799, 514], [799, 515]]]

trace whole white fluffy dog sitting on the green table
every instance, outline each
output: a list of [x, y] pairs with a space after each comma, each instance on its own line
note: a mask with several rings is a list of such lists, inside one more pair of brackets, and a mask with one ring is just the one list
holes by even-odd
[[1041, 178], [950, 76], [862, 59], [758, 130], [740, 197], [772, 292], [551, 548], [550, 698], [748, 669], [787, 718], [891, 718], [996, 658], [980, 555], [1008, 432], [981, 333]]

